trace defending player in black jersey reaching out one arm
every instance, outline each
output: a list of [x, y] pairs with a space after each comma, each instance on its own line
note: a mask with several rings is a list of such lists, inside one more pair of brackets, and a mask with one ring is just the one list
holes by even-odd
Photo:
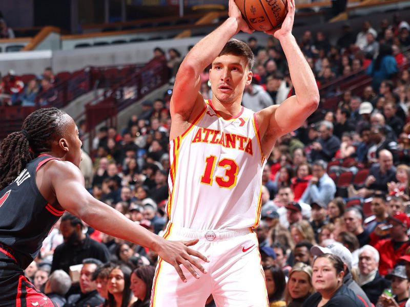
[[65, 212], [109, 235], [153, 249], [172, 264], [182, 280], [180, 264], [195, 277], [204, 271], [189, 248], [197, 240], [170, 242], [146, 230], [84, 188], [78, 165], [81, 141], [73, 119], [57, 108], [33, 112], [22, 130], [10, 134], [0, 154], [0, 306], [53, 306], [24, 276], [43, 239]]

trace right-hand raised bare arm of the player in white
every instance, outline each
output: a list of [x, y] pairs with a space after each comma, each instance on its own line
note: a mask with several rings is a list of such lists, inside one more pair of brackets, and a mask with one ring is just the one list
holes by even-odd
[[288, 0], [288, 14], [279, 30], [267, 33], [274, 34], [279, 39], [283, 52], [288, 60], [295, 96], [286, 99], [279, 106], [263, 109], [258, 118], [265, 133], [264, 154], [270, 154], [276, 139], [290, 131], [299, 128], [317, 108], [319, 90], [315, 77], [308, 62], [305, 60], [295, 37], [292, 35], [295, 16], [295, 1]]

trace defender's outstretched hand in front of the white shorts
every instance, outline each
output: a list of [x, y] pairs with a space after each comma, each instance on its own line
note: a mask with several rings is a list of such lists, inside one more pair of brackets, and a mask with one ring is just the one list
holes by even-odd
[[208, 258], [201, 253], [189, 248], [189, 246], [197, 244], [198, 241], [199, 239], [189, 241], [168, 241], [164, 239], [163, 242], [161, 242], [158, 256], [167, 261], [175, 268], [183, 282], [187, 282], [187, 278], [185, 277], [185, 275], [183, 275], [183, 272], [179, 265], [186, 267], [195, 278], [199, 278], [199, 275], [192, 267], [192, 265], [197, 267], [202, 273], [207, 273], [207, 270], [205, 270], [199, 264], [198, 260], [192, 256], [198, 257], [206, 262], [209, 262]]

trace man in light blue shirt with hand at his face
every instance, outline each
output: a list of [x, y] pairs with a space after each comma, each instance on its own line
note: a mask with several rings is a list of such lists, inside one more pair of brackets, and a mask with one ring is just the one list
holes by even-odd
[[318, 160], [312, 166], [312, 178], [308, 187], [303, 192], [301, 201], [304, 203], [321, 202], [329, 204], [334, 199], [336, 185], [332, 178], [326, 173], [327, 163]]

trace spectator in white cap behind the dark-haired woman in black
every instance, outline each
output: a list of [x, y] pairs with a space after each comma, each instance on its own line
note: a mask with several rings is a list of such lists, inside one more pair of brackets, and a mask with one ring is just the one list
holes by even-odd
[[343, 284], [345, 284], [348, 289], [352, 290], [356, 294], [356, 296], [358, 296], [359, 299], [363, 302], [363, 304], [367, 305], [368, 307], [372, 305], [364, 291], [360, 288], [356, 281], [353, 280], [351, 273], [353, 256], [346, 247], [337, 242], [328, 245], [327, 247], [315, 245], [311, 248], [311, 253], [315, 256], [322, 254], [333, 254], [338, 256], [344, 264]]

